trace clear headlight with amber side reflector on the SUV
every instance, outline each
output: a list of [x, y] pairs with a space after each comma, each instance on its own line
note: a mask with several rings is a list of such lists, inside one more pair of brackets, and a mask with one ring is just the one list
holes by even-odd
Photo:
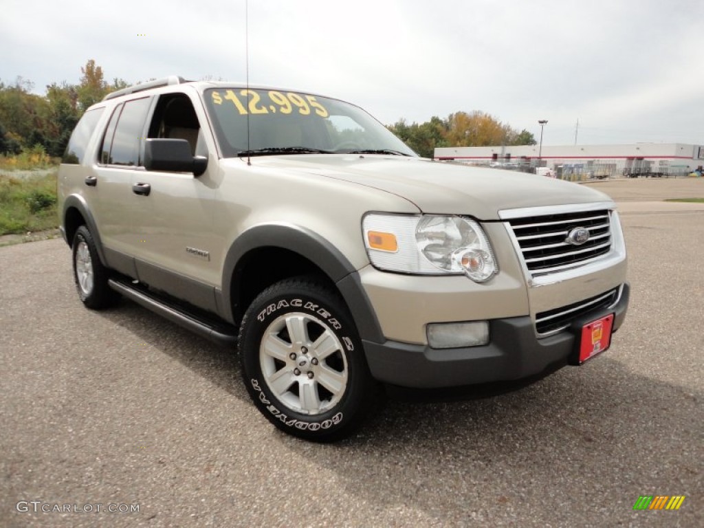
[[459, 275], [474, 282], [498, 271], [489, 239], [477, 222], [450, 215], [382, 215], [362, 222], [369, 259], [381, 270]]

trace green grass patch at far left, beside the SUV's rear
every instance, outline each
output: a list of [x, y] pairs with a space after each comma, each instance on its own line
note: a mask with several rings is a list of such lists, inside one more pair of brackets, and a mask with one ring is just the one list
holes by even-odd
[[41, 177], [0, 174], [0, 235], [56, 227], [56, 170]]

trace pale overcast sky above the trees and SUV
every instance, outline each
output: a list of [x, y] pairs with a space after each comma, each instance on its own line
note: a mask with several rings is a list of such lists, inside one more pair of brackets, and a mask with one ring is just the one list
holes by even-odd
[[[245, 0], [1, 0], [0, 80], [244, 80]], [[142, 36], [144, 35], [144, 36]], [[704, 144], [703, 0], [249, 0], [249, 81], [385, 124], [484, 111], [543, 144]]]

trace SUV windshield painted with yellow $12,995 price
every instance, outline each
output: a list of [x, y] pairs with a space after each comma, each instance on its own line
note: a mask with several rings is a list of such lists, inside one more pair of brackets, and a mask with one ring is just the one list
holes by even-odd
[[241, 87], [208, 89], [204, 95], [225, 158], [281, 153], [416, 156], [371, 115], [337, 99]]

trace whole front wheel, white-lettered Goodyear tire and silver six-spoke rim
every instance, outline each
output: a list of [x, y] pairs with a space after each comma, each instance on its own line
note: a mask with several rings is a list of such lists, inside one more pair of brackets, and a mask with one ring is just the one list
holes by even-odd
[[375, 401], [351, 315], [315, 279], [286, 279], [259, 294], [242, 319], [239, 353], [255, 406], [288, 434], [342, 439]]

